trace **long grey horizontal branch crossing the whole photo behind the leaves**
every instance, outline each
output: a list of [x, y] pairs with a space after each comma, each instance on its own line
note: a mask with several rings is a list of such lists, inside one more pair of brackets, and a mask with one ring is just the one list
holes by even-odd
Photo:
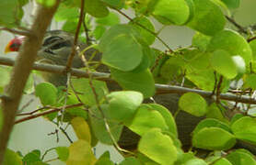
[[[14, 62], [15, 62], [15, 60], [13, 60], [11, 58], [0, 57], [0, 64], [2, 64], [2, 65], [13, 66]], [[65, 71], [66, 71], [64, 66], [41, 64], [41, 63], [34, 63], [33, 69], [37, 70], [37, 71], [47, 71], [47, 72], [58, 73], [58, 74], [65, 74]], [[81, 70], [72, 68], [70, 70], [70, 73], [71, 73], [71, 75], [76, 76], [76, 77], [88, 78], [87, 71], [81, 71]], [[94, 79], [104, 81], [104, 82], [114, 82], [111, 79], [110, 73], [103, 73], [103, 72], [90, 72], [90, 73]], [[156, 83], [155, 86], [157, 89], [157, 94], [162, 94], [162, 93], [182, 94], [182, 93], [192, 92], [192, 93], [199, 93], [204, 97], [211, 97], [213, 95], [212, 92], [206, 92], [203, 90], [191, 89], [191, 88], [180, 87], [180, 86], [175, 86], [175, 85]], [[245, 104], [256, 104], [256, 99], [250, 98], [250, 96], [236, 95], [233, 93], [220, 93], [219, 99], [238, 102], [238, 103], [245, 103]]]

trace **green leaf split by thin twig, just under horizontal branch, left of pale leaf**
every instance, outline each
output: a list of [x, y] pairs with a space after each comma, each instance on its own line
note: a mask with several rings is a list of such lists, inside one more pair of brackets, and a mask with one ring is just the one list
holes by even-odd
[[[95, 95], [89, 85], [88, 79], [72, 79], [72, 84], [75, 88], [76, 93], [79, 95], [80, 99], [84, 104], [87, 104], [89, 106], [96, 104]], [[103, 99], [105, 95], [104, 91], [108, 91], [106, 83], [93, 80], [92, 84], [97, 93], [98, 99]]]

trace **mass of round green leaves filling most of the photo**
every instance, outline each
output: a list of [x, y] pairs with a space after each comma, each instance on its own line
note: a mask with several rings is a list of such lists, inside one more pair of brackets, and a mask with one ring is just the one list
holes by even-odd
[[[37, 2], [51, 7], [57, 0]], [[22, 6], [28, 3], [27, 0], [0, 0], [0, 26], [17, 29], [23, 26], [26, 11]], [[254, 29], [250, 31], [251, 36], [250, 32], [241, 34], [225, 28], [226, 15], [231, 9], [239, 9], [239, 0], [85, 0], [84, 17], [79, 20], [81, 7], [81, 0], [64, 0], [54, 20], [64, 22], [63, 30], [73, 34], [82, 21], [78, 37], [97, 45], [95, 56], [98, 56], [96, 51], [102, 53], [100, 62], [89, 58], [82, 70], [89, 74], [98, 71], [100, 64], [107, 66], [111, 79], [120, 87], [113, 89], [111, 82], [96, 80], [91, 75], [87, 79], [70, 78], [67, 88], [50, 82], [41, 82], [33, 88], [32, 82], [28, 82], [25, 92], [32, 91], [41, 100], [44, 108], [40, 113], [55, 109], [43, 116], [57, 126], [70, 124], [78, 138], [69, 147], [53, 148], [57, 159], [68, 165], [114, 164], [109, 152], [95, 158], [92, 148], [99, 141], [113, 145], [121, 153], [132, 153], [120, 165], [256, 164], [249, 150], [232, 149], [239, 140], [256, 148], [253, 146], [256, 119], [253, 111], [250, 113], [253, 106], [240, 105], [236, 100], [236, 104], [230, 104], [220, 100], [219, 95], [230, 92], [233, 83], [239, 81], [241, 84], [235, 86], [239, 94], [251, 96], [256, 89], [256, 39], [247, 40], [255, 38]], [[124, 9], [133, 11], [134, 17], [123, 13]], [[121, 24], [121, 15], [128, 17], [129, 22]], [[192, 28], [195, 31], [192, 45], [170, 49], [169, 43], [158, 37], [156, 21], [162, 28], [173, 25]], [[155, 48], [156, 40], [166, 50]], [[10, 70], [1, 66], [0, 73], [0, 93], [4, 93]], [[178, 107], [162, 102], [152, 104], [149, 98], [157, 100], [157, 94], [164, 92], [156, 89], [156, 83], [210, 91], [215, 100], [199, 93], [184, 93], [178, 96], [179, 101], [175, 103]], [[173, 100], [169, 97], [166, 102]], [[232, 117], [234, 112], [239, 115]], [[189, 152], [183, 149], [185, 146], [182, 148], [183, 137], [179, 136], [182, 125], [177, 117], [182, 113], [204, 117], [194, 126], [193, 149]], [[0, 108], [0, 129], [5, 120], [2, 114]], [[184, 120], [184, 123], [190, 121]], [[123, 151], [118, 146], [124, 126], [139, 137], [137, 151]], [[208, 154], [200, 155], [198, 148], [207, 149]], [[23, 156], [8, 148], [4, 164], [48, 164], [43, 158], [38, 149]]]

